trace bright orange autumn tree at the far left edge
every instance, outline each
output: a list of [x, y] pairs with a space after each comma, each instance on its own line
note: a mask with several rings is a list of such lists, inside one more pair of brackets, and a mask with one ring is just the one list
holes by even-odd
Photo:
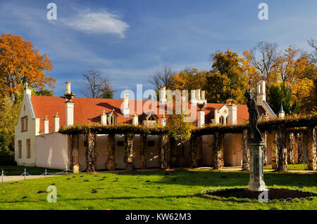
[[54, 88], [55, 79], [47, 77], [46, 72], [53, 64], [46, 54], [39, 54], [32, 42], [20, 36], [4, 34], [0, 36], [0, 95], [14, 96], [23, 86], [23, 79], [32, 88]]

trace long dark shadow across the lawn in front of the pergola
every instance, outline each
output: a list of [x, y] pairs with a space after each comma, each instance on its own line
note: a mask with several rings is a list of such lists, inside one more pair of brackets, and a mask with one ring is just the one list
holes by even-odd
[[[242, 171], [156, 171], [120, 173], [119, 176], [161, 176], [160, 180], [151, 180], [149, 185], [188, 185], [208, 187], [247, 186], [249, 173]], [[266, 185], [315, 187], [317, 173], [264, 173]]]

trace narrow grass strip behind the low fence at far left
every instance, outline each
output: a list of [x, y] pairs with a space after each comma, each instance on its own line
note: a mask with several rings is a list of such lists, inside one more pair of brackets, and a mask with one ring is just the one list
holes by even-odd
[[[6, 176], [18, 176], [24, 173], [24, 169], [26, 169], [27, 173], [31, 175], [41, 175], [45, 172], [45, 168], [40, 167], [25, 167], [25, 166], [0, 166], [0, 175], [2, 170], [4, 170], [4, 175]], [[47, 169], [48, 173], [58, 173], [61, 170], [58, 169]]]

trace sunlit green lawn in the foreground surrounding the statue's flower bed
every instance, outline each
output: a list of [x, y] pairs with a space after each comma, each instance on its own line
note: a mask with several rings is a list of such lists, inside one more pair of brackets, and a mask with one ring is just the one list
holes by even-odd
[[[316, 173], [265, 173], [268, 187], [316, 191]], [[251, 202], [201, 196], [201, 190], [247, 187], [243, 171], [149, 171], [72, 174], [0, 184], [0, 209], [317, 209], [317, 198]], [[57, 188], [57, 202], [46, 202], [46, 187]]]

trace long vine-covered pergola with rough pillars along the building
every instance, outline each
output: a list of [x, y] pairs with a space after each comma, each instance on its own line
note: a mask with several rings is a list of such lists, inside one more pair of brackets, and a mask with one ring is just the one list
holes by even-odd
[[[302, 143], [303, 133], [308, 136], [308, 169], [317, 169], [316, 147], [317, 147], [317, 114], [305, 117], [287, 117], [285, 119], [261, 119], [258, 127], [263, 135], [263, 140], [266, 141], [266, 133], [271, 133], [275, 136], [272, 150], [272, 166], [277, 171], [287, 170], [287, 147], [292, 144], [287, 138], [290, 135], [297, 134], [297, 142]], [[175, 139], [168, 136], [168, 126], [155, 126], [147, 128], [143, 125], [108, 125], [101, 126], [100, 124], [75, 124], [73, 126], [63, 126], [60, 133], [67, 134], [71, 139], [71, 164], [75, 173], [79, 172], [79, 144], [78, 135], [85, 135], [87, 138], [87, 172], [92, 173], [96, 170], [96, 135], [108, 135], [108, 160], [106, 169], [114, 170], [115, 166], [115, 140], [116, 135], [125, 136], [125, 170], [132, 171], [135, 169], [133, 164], [133, 138], [135, 135], [141, 137], [141, 168], [147, 168], [147, 136], [159, 136], [159, 168], [168, 169], [170, 162], [173, 162], [175, 154]], [[213, 135], [213, 166], [215, 169], [221, 169], [223, 162], [223, 140], [225, 133], [242, 133], [243, 150], [242, 150], [242, 169], [249, 169], [249, 153], [247, 147], [248, 123], [240, 125], [213, 125], [205, 126], [192, 130], [192, 136], [189, 139], [190, 166], [197, 167], [201, 160], [202, 136]], [[287, 145], [288, 144], [288, 145]], [[299, 144], [300, 145], [300, 144]]]

